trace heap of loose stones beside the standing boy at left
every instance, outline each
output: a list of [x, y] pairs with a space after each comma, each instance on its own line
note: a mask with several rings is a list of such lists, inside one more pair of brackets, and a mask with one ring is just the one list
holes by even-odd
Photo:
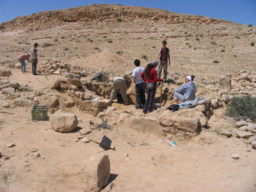
[[70, 72], [72, 74], [86, 74], [86, 71], [82, 67], [72, 66], [66, 62], [52, 59], [46, 60], [44, 64], [38, 64], [36, 72], [54, 75], [64, 74], [65, 72]]

